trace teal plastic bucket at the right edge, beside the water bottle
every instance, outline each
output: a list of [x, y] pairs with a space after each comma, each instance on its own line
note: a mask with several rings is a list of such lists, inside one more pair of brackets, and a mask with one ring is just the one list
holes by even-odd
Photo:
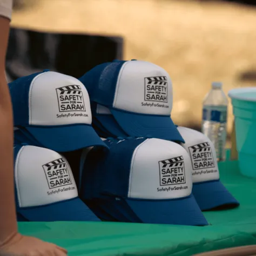
[[256, 87], [233, 89], [228, 96], [235, 117], [240, 172], [256, 178]]

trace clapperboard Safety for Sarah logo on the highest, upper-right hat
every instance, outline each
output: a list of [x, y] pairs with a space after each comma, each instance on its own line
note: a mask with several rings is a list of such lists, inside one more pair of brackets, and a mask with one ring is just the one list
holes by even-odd
[[145, 101], [168, 102], [167, 77], [145, 77]]

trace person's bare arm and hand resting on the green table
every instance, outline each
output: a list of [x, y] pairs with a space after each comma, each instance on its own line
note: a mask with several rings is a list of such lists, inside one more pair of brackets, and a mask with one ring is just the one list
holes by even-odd
[[10, 20], [0, 16], [0, 255], [65, 256], [67, 251], [64, 248], [18, 233], [14, 192], [12, 105], [5, 78], [9, 30]]

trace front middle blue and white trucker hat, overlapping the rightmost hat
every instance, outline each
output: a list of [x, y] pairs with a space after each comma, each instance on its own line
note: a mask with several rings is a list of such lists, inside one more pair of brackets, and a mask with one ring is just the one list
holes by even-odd
[[[97, 186], [87, 193], [90, 198], [111, 200], [104, 211], [113, 217], [122, 214], [130, 222], [207, 225], [191, 194], [190, 157], [179, 144], [155, 138], [123, 139], [98, 158], [98, 165], [92, 177]], [[87, 176], [83, 185], [90, 183]], [[80, 196], [86, 198], [83, 192], [86, 189]], [[134, 215], [139, 221], [134, 221]]]

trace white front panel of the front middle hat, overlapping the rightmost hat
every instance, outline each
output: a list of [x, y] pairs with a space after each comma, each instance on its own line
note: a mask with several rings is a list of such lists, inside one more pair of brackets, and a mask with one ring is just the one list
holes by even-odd
[[174, 142], [147, 139], [134, 150], [129, 198], [174, 199], [192, 191], [191, 161]]

